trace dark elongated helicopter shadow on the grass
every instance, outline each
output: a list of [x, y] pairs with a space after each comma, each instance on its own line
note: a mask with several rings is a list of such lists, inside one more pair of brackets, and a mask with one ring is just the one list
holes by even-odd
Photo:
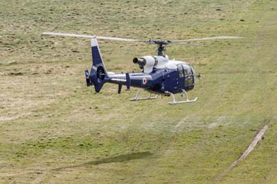
[[122, 163], [128, 160], [135, 160], [135, 159], [143, 159], [145, 157], [152, 156], [152, 153], [150, 151], [144, 151], [144, 152], [136, 152], [136, 153], [130, 153], [130, 154], [123, 154], [118, 156], [113, 156], [109, 158], [102, 158], [98, 160], [93, 160], [88, 163], [82, 163], [79, 165], [71, 165], [68, 167], [60, 167], [53, 170], [61, 170], [61, 169], [68, 169], [68, 168], [75, 168], [75, 167], [86, 167], [89, 165], [100, 165], [103, 163]]

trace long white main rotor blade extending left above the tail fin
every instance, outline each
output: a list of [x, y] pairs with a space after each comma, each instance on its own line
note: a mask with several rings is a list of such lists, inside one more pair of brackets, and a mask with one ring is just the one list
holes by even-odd
[[42, 35], [55, 35], [55, 36], [64, 36], [64, 37], [85, 37], [85, 38], [97, 38], [97, 39], [109, 39], [123, 42], [148, 42], [147, 40], [140, 39], [127, 39], [119, 37], [100, 37], [96, 35], [78, 35], [78, 34], [69, 34], [69, 33], [53, 33], [53, 32], [44, 32]]

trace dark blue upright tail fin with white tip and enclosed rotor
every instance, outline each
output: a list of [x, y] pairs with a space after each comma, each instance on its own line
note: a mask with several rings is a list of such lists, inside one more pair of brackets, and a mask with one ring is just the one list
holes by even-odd
[[100, 49], [96, 38], [91, 39], [92, 66], [89, 75], [90, 81], [94, 84], [94, 89], [98, 93], [103, 84], [109, 80], [109, 76], [102, 60]]

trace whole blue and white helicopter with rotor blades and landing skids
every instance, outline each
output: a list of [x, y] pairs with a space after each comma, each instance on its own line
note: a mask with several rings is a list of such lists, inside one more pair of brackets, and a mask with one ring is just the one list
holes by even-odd
[[[157, 99], [158, 95], [172, 96], [172, 101], [169, 104], [182, 104], [196, 102], [197, 97], [189, 100], [188, 91], [193, 90], [196, 85], [196, 79], [201, 77], [196, 75], [195, 70], [188, 62], [169, 59], [168, 55], [163, 55], [165, 46], [169, 44], [181, 44], [185, 46], [199, 46], [197, 44], [189, 44], [188, 42], [216, 40], [216, 39], [240, 39], [242, 37], [220, 36], [220, 37], [204, 37], [197, 39], [183, 40], [143, 40], [143, 39], [126, 39], [120, 37], [102, 37], [96, 35], [77, 35], [69, 33], [53, 33], [44, 32], [42, 35], [56, 35], [63, 37], [84, 37], [91, 39], [92, 66], [90, 73], [84, 71], [87, 86], [94, 86], [96, 93], [99, 93], [102, 86], [106, 83], [118, 84], [118, 94], [120, 94], [122, 86], [130, 86], [140, 88], [134, 98], [129, 100], [153, 100]], [[102, 59], [98, 39], [107, 39], [123, 42], [143, 42], [147, 44], [157, 44], [157, 55], [134, 57], [133, 63], [138, 64], [141, 72], [114, 73], [108, 72]], [[150, 95], [145, 98], [140, 98], [139, 93], [148, 91]], [[186, 100], [177, 100], [175, 94], [180, 93], [181, 97], [186, 96]], [[154, 94], [154, 96], [152, 95]]]

